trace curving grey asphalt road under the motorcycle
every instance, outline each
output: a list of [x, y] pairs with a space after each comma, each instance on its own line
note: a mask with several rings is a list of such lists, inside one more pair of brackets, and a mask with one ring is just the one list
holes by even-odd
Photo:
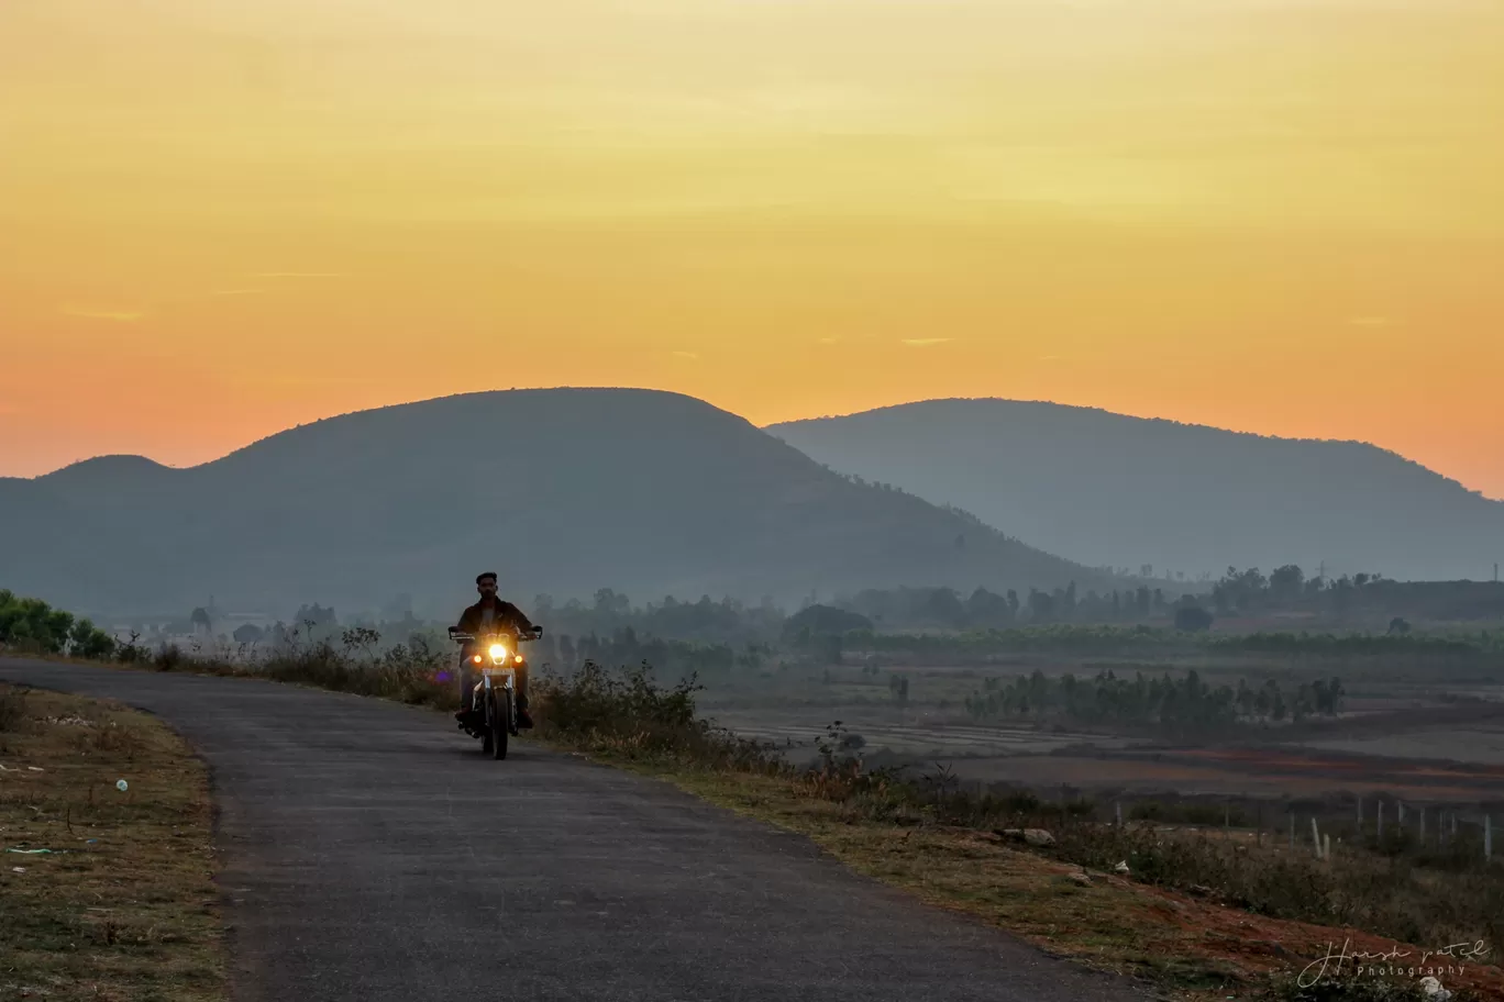
[[1137, 988], [854, 876], [809, 841], [447, 718], [245, 679], [0, 661], [208, 760], [238, 1002], [1117, 1002]]

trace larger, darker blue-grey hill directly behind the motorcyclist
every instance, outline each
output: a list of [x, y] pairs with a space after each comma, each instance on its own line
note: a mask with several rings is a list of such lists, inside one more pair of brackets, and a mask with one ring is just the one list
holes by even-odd
[[472, 394], [319, 421], [214, 463], [0, 479], [0, 587], [114, 613], [301, 602], [445, 614], [505, 593], [772, 595], [1107, 584], [851, 482], [741, 418], [633, 389]]

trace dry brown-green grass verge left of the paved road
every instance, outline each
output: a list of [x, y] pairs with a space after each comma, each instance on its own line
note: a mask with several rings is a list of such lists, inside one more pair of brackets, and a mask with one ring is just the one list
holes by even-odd
[[224, 999], [208, 774], [183, 741], [0, 684], [0, 999]]

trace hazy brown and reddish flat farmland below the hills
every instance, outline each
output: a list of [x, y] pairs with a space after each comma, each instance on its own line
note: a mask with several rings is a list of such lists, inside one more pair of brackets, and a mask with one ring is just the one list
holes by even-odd
[[[911, 659], [883, 649], [851, 650], [839, 664], [785, 661], [758, 678], [711, 679], [701, 708], [740, 735], [785, 745], [796, 760], [814, 757], [817, 742], [839, 721], [869, 765], [945, 775], [978, 789], [1089, 799], [1101, 813], [1203, 802], [1263, 831], [1284, 831], [1293, 816], [1310, 816], [1324, 825], [1351, 822], [1357, 835], [1363, 817], [1376, 837], [1375, 805], [1382, 801], [1391, 829], [1405, 810], [1417, 838], [1423, 817], [1430, 840], [1441, 837], [1442, 825], [1450, 834], [1453, 817], [1468, 831], [1489, 816], [1493, 825], [1504, 823], [1504, 655], [1354, 653], [1330, 644], [1293, 653], [1248, 649], [1257, 643], [1092, 646], [1084, 653], [969, 653], [952, 644], [940, 652], [949, 658], [925, 652]], [[1060, 712], [979, 718], [967, 708], [987, 693], [1021, 688], [1036, 673], [1059, 684], [1066, 675], [1184, 679], [1188, 672], [1208, 688], [1275, 685], [1286, 693], [1337, 678], [1343, 697], [1331, 714], [1205, 730]]]

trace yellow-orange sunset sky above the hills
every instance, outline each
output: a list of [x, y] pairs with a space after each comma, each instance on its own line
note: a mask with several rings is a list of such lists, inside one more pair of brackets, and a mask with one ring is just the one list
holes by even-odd
[[931, 397], [1504, 499], [1499, 0], [3, 0], [0, 475]]

